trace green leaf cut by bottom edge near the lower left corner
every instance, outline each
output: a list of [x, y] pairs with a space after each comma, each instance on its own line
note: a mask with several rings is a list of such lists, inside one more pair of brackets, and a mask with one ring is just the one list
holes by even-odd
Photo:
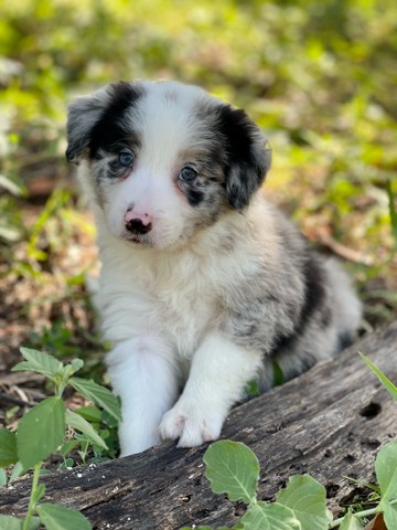
[[39, 505], [37, 513], [46, 530], [90, 530], [89, 521], [79, 511], [64, 506]]

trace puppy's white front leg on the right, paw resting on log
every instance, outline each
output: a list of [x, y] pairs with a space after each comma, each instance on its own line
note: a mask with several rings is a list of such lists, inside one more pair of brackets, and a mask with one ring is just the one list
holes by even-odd
[[181, 398], [160, 425], [162, 438], [192, 447], [219, 436], [222, 425], [245, 384], [255, 377], [261, 356], [221, 335], [206, 337], [195, 352]]

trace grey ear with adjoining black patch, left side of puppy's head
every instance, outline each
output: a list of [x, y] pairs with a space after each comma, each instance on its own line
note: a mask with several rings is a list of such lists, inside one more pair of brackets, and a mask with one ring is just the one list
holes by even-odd
[[100, 147], [111, 146], [125, 137], [124, 114], [141, 93], [140, 86], [120, 82], [73, 102], [67, 118], [67, 160], [78, 161], [87, 148], [93, 158]]

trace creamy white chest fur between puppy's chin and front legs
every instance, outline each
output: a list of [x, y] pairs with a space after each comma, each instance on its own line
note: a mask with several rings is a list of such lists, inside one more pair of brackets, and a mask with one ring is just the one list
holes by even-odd
[[[118, 246], [101, 252], [103, 329], [111, 342], [161, 335], [190, 358], [216, 321], [218, 268], [190, 252]], [[206, 263], [203, 263], [205, 261]]]

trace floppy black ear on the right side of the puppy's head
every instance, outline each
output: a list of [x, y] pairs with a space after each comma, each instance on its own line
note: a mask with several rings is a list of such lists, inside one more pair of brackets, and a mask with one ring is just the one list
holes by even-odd
[[222, 105], [217, 126], [225, 141], [226, 192], [236, 210], [248, 205], [271, 163], [271, 151], [260, 128], [244, 110]]

